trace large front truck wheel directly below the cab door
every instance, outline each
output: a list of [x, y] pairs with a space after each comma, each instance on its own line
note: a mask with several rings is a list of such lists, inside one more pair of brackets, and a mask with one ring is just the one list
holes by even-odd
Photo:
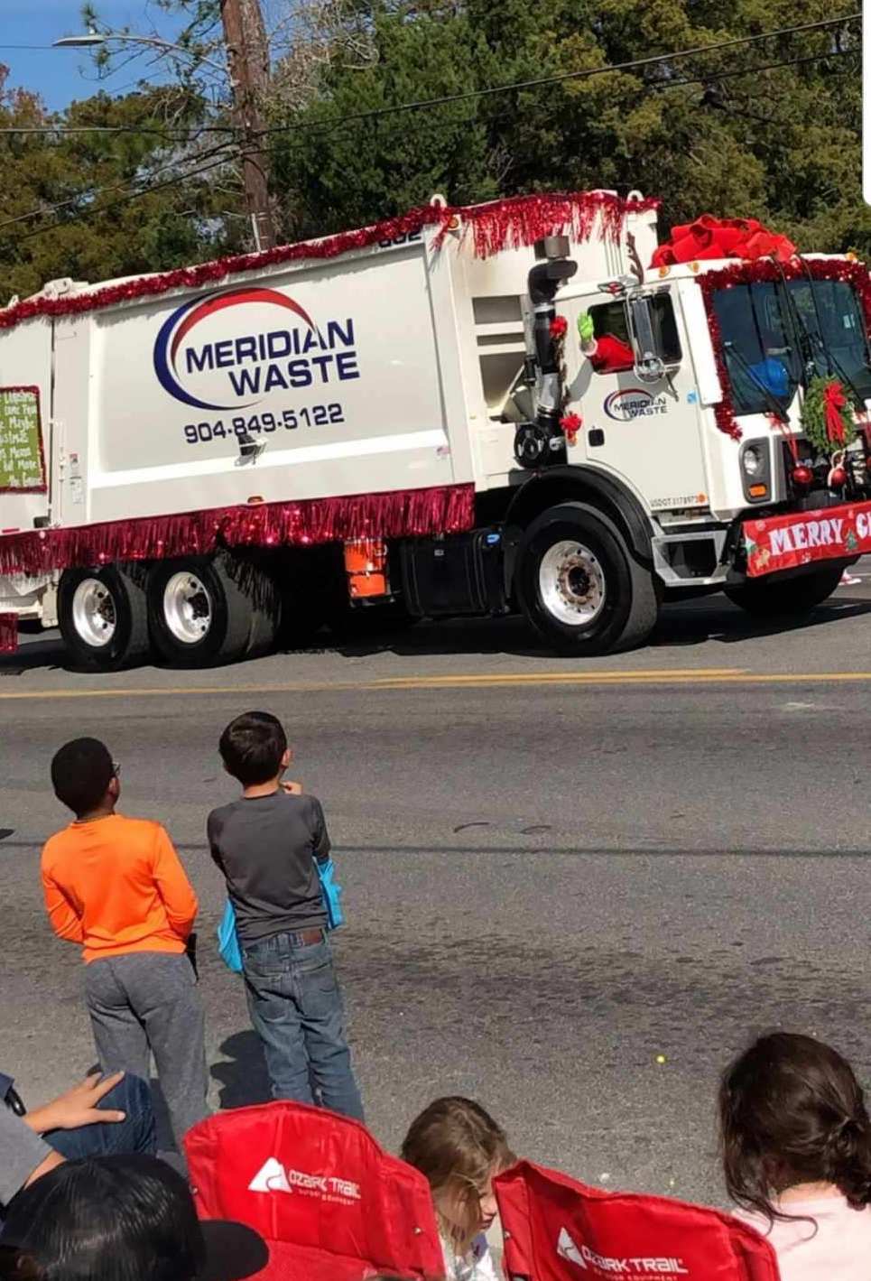
[[653, 575], [638, 565], [608, 518], [562, 502], [526, 529], [517, 552], [520, 607], [561, 653], [615, 653], [642, 644], [656, 625]]

